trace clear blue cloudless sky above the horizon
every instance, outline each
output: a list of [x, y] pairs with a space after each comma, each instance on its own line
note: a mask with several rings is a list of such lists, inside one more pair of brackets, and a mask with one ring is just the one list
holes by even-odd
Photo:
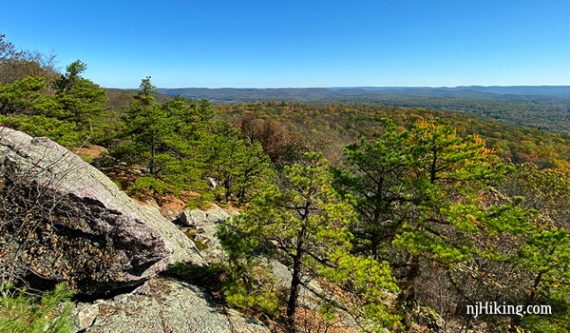
[[570, 84], [570, 0], [0, 0], [0, 32], [106, 87]]

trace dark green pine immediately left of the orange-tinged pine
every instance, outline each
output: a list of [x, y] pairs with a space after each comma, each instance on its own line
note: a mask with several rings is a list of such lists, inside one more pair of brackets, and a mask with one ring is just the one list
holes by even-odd
[[404, 221], [402, 207], [412, 201], [410, 170], [412, 153], [409, 133], [398, 131], [385, 120], [384, 132], [374, 141], [362, 138], [345, 148], [346, 168], [335, 168], [335, 186], [341, 194], [354, 197], [359, 223], [353, 227], [359, 251], [380, 260], [387, 244]]

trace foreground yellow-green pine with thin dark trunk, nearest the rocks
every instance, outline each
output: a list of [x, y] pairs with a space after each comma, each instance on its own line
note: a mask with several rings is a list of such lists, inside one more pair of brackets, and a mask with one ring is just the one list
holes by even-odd
[[320, 154], [308, 153], [302, 162], [286, 166], [279, 186], [255, 197], [232, 227], [257, 239], [262, 247], [270, 249], [270, 256], [289, 266], [290, 327], [294, 328], [301, 285], [315, 277], [328, 278], [347, 288], [362, 288], [367, 301], [359, 310], [370, 310], [368, 320], [374, 323], [370, 325], [395, 327], [397, 318], [382, 305], [385, 291], [395, 289], [389, 267], [350, 255], [352, 235], [348, 227], [356, 216], [339, 198], [331, 181], [327, 161]]

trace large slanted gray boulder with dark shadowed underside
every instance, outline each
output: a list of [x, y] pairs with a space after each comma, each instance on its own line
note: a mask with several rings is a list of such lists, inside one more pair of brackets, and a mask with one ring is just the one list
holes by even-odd
[[[18, 259], [41, 280], [104, 294], [140, 284], [169, 262], [204, 263], [192, 241], [156, 209], [141, 207], [49, 139], [0, 127], [0, 191], [3, 218], [14, 218], [0, 235], [0, 254], [26, 242]], [[37, 198], [39, 204], [29, 204]]]

